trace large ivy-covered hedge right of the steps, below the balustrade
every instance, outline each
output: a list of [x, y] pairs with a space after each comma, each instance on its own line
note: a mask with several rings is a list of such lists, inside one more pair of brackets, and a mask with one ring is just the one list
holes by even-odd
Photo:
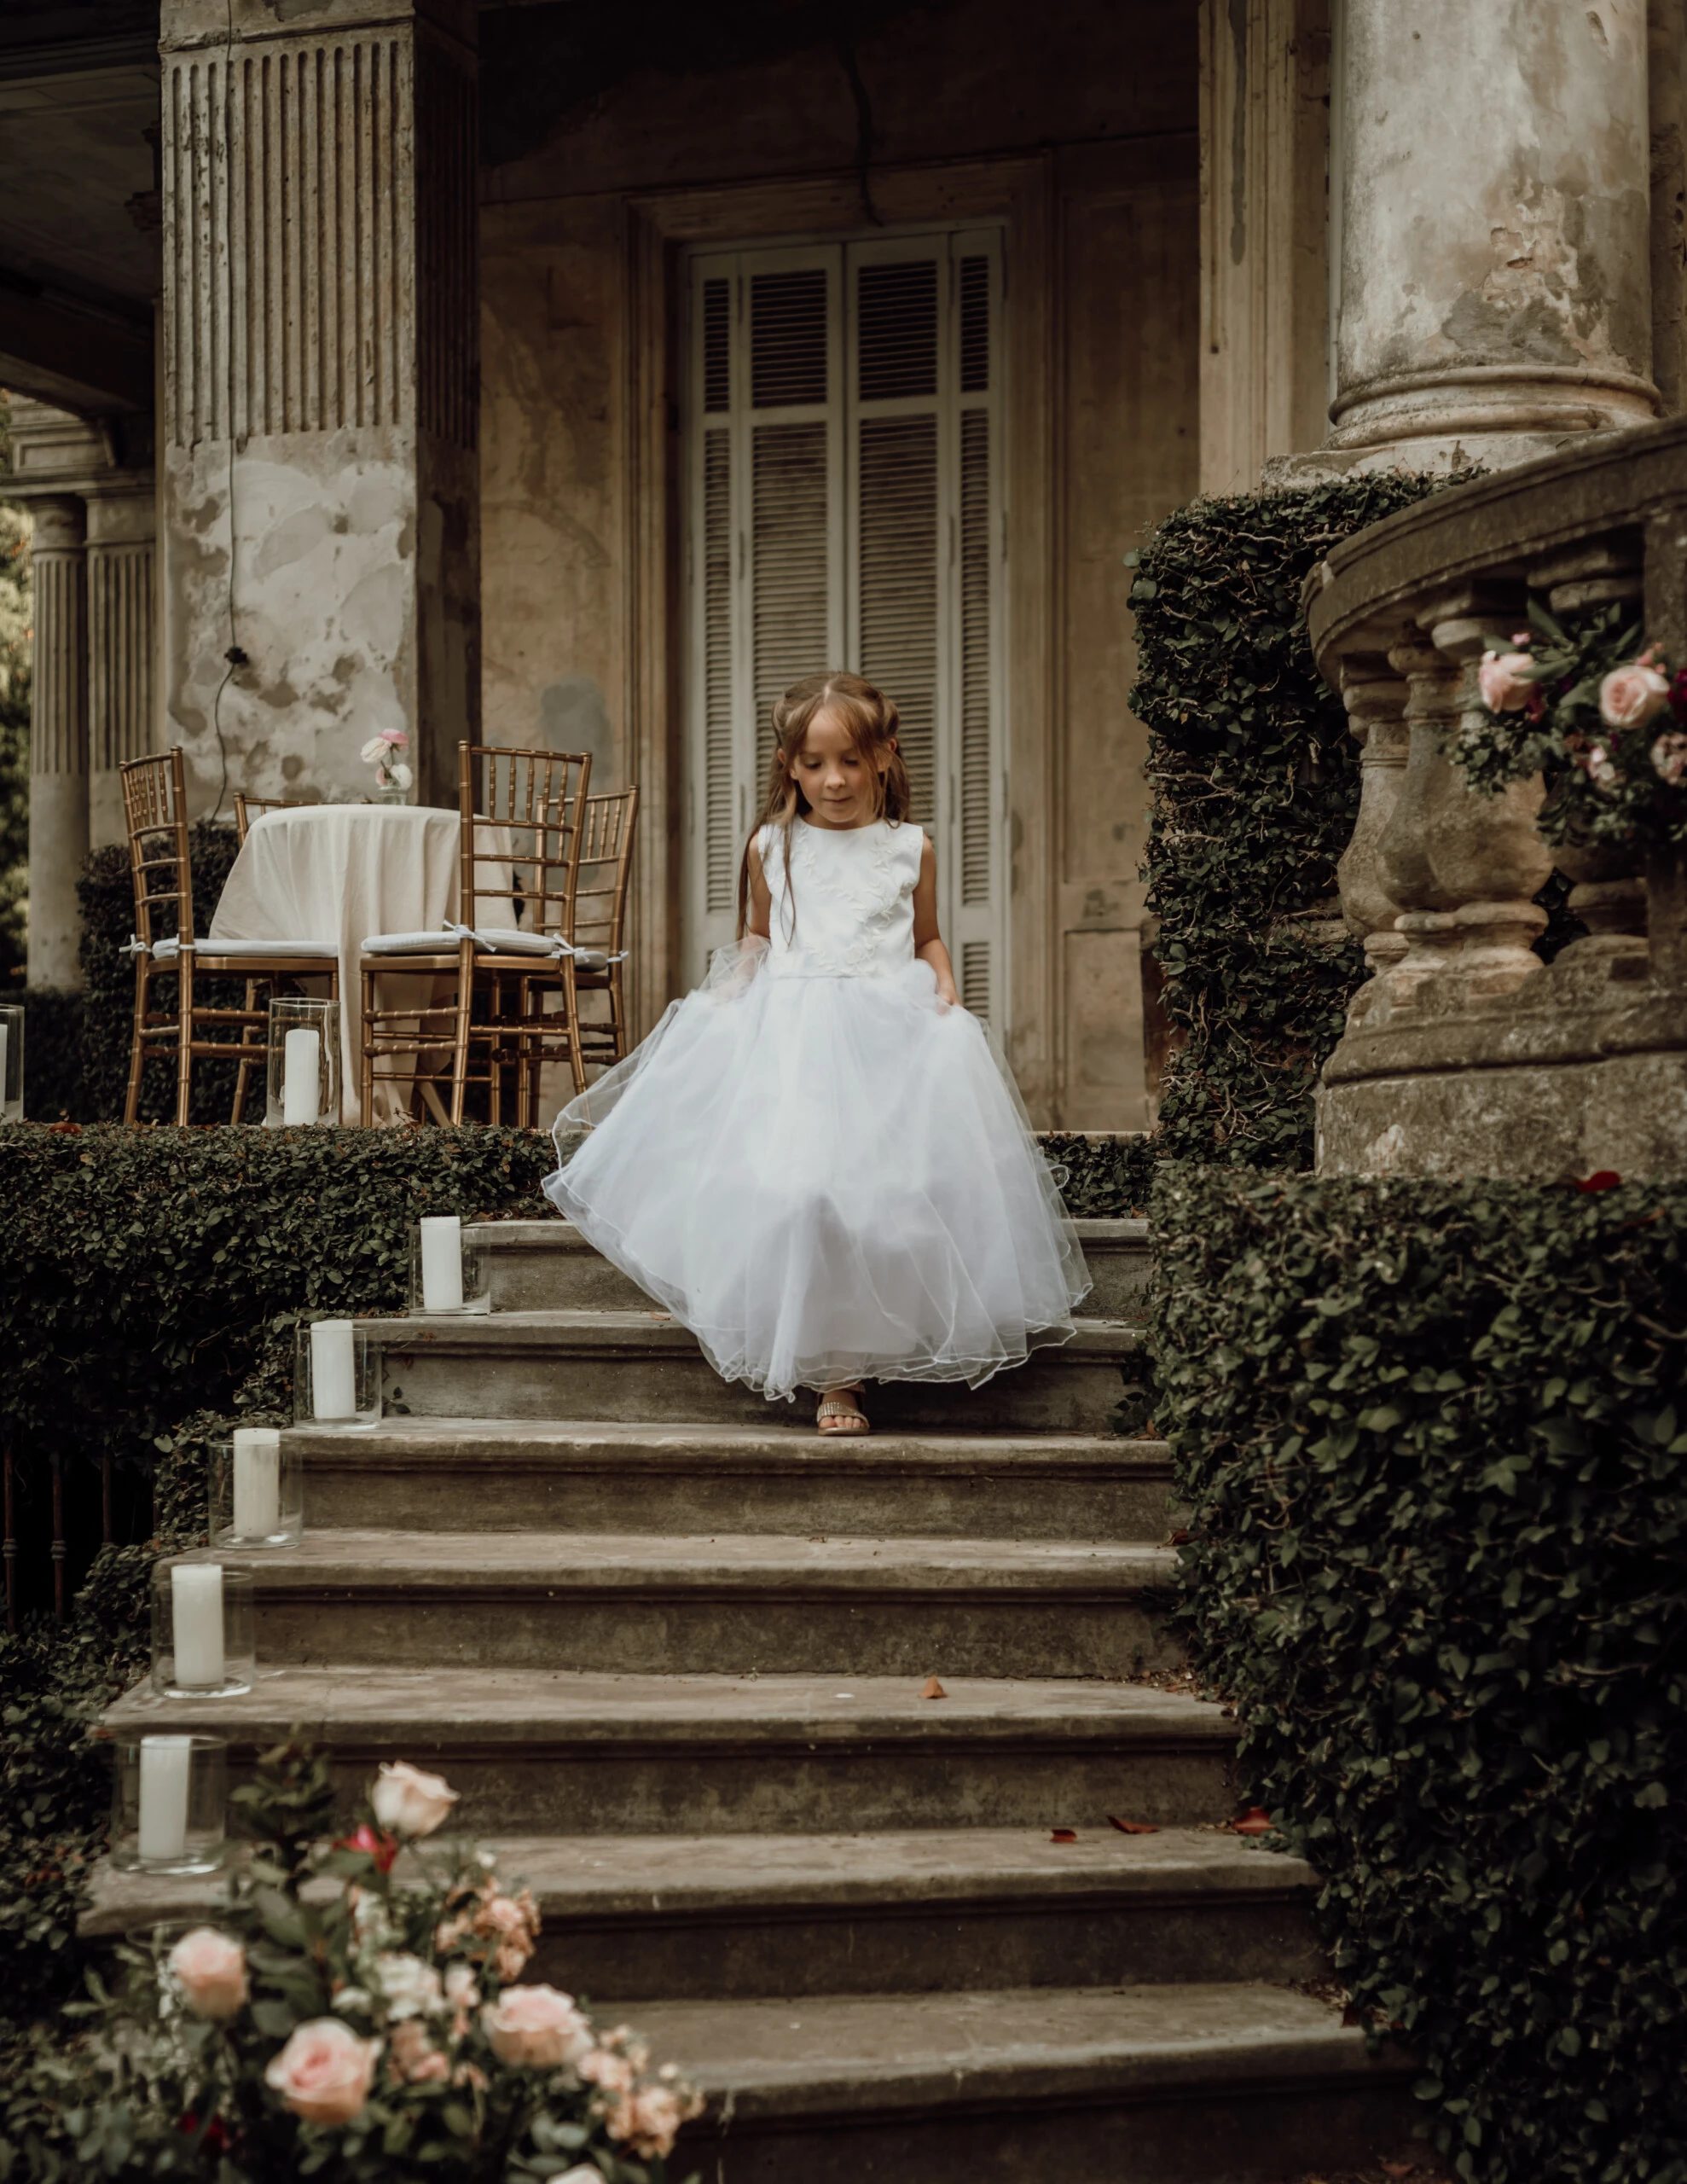
[[1196, 1666], [1482, 2184], [1687, 2177], [1687, 1188], [1168, 1168]]

